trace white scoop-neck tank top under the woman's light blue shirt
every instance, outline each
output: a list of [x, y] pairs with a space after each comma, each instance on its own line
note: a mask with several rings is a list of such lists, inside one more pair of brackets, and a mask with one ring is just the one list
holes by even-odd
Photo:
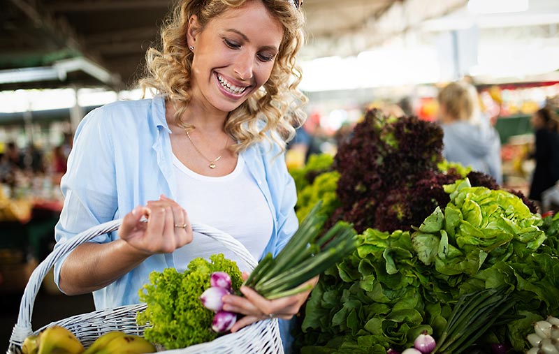
[[[223, 177], [208, 177], [187, 168], [173, 154], [173, 170], [177, 183], [176, 201], [190, 221], [205, 223], [238, 239], [258, 260], [272, 235], [273, 219], [258, 184], [238, 157], [235, 170]], [[215, 253], [237, 262], [240, 270], [247, 265], [221, 243], [194, 233], [194, 239], [173, 252], [175, 267], [184, 271], [197, 257], [208, 259]]]

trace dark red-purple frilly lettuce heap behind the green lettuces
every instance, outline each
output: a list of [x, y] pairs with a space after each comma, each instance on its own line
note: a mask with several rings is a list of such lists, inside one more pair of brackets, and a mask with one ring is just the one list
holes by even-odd
[[343, 220], [363, 232], [409, 230], [419, 226], [448, 196], [442, 184], [458, 173], [443, 173], [442, 128], [417, 117], [382, 116], [368, 110], [354, 137], [339, 147], [333, 167], [340, 173], [336, 196], [340, 202], [331, 224]]

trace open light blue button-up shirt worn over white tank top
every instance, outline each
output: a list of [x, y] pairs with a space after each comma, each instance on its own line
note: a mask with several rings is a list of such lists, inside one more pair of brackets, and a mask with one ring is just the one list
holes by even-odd
[[[173, 199], [176, 186], [170, 133], [161, 96], [119, 101], [89, 112], [75, 132], [68, 172], [61, 180], [64, 208], [55, 228], [57, 246], [92, 226], [122, 218], [161, 194]], [[261, 257], [268, 252], [275, 256], [298, 228], [293, 209], [295, 184], [279, 152], [276, 145], [261, 142], [241, 153], [273, 216], [272, 236]], [[117, 238], [113, 232], [94, 242]], [[55, 264], [57, 284], [64, 260]], [[150, 272], [166, 267], [174, 267], [172, 254], [150, 256], [114, 283], [94, 291], [96, 309], [140, 302], [138, 290], [149, 282]]]

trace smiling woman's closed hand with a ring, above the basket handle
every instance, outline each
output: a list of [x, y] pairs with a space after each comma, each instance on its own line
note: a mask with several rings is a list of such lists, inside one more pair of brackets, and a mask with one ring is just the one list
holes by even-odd
[[[147, 222], [140, 221], [143, 216]], [[174, 200], [161, 196], [126, 214], [118, 235], [140, 253], [151, 256], [171, 253], [192, 242], [192, 227], [187, 212]]]

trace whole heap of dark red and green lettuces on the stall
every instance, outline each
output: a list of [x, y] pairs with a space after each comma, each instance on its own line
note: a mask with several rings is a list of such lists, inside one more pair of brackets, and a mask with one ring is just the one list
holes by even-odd
[[[412, 350], [427, 332], [437, 353], [524, 352], [532, 323], [558, 316], [559, 218], [542, 219], [522, 193], [442, 161], [438, 129], [373, 110], [338, 150], [333, 167], [340, 177], [329, 198], [339, 206], [326, 226], [351, 221], [360, 242], [321, 275], [300, 318], [295, 351], [394, 353]], [[300, 193], [309, 188], [318, 196], [333, 189], [307, 181]], [[506, 290], [495, 295], [498, 289]], [[460, 298], [472, 294], [491, 296], [451, 321]], [[491, 310], [492, 304], [501, 305]], [[467, 341], [451, 343], [449, 330]]]

